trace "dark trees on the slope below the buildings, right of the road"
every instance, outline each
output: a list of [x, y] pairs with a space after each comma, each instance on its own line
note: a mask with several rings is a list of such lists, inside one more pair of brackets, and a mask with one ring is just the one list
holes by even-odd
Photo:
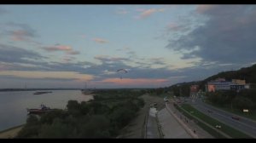
[[256, 89], [242, 89], [240, 92], [234, 90], [218, 90], [208, 92], [207, 100], [218, 106], [232, 106], [240, 111], [249, 109], [256, 112]]

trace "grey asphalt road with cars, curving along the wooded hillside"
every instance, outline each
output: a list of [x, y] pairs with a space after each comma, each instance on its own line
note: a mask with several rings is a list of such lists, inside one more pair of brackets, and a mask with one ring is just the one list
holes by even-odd
[[[230, 112], [224, 112], [223, 110], [217, 109], [213, 106], [207, 105], [200, 99], [194, 100], [187, 99], [187, 103], [194, 106], [197, 110], [207, 114], [210, 117], [218, 119], [220, 122], [229, 125], [234, 129], [238, 129], [245, 134], [256, 138], [256, 122], [246, 117], [240, 117]], [[211, 111], [211, 112], [208, 112]], [[233, 119], [232, 116], [239, 117], [239, 120]]]

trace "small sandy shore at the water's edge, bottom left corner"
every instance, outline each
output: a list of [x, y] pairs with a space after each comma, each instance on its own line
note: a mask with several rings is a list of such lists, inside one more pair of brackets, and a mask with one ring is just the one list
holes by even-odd
[[0, 132], [0, 139], [12, 139], [20, 132], [24, 125], [20, 125], [11, 129], [6, 129]]

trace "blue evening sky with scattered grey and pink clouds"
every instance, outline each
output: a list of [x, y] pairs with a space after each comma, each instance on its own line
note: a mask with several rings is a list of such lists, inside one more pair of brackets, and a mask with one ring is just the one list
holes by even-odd
[[2, 4], [0, 89], [203, 80], [256, 63], [255, 17], [256, 5]]

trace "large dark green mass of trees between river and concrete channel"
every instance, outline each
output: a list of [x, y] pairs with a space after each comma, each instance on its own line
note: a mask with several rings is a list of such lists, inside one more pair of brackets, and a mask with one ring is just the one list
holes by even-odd
[[17, 138], [114, 138], [143, 106], [140, 98], [119, 99], [111, 107], [98, 100], [69, 100], [67, 111], [30, 115]]

